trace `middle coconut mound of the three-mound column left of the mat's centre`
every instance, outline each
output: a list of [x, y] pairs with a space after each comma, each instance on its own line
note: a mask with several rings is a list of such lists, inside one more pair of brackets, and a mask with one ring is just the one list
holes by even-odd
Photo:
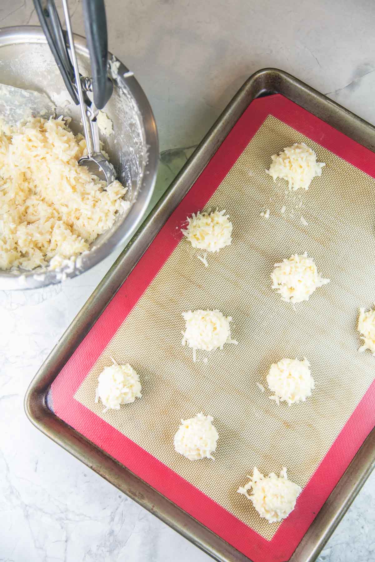
[[192, 347], [193, 361], [196, 361], [196, 350], [213, 351], [223, 349], [224, 343], [237, 344], [231, 339], [232, 317], [224, 316], [220, 310], [189, 310], [182, 316], [186, 322], [182, 345], [187, 343]]

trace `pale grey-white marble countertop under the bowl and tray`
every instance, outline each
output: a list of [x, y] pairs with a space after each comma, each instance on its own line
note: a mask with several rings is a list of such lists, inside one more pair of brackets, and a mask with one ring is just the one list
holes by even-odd
[[[56, 2], [60, 7], [60, 2]], [[83, 34], [80, 0], [69, 2]], [[110, 49], [150, 99], [160, 134], [156, 202], [243, 81], [275, 66], [375, 123], [371, 0], [107, 0]], [[37, 24], [2, 0], [0, 26]], [[0, 292], [0, 562], [209, 562], [26, 419], [26, 388], [117, 251], [61, 285]], [[320, 562], [375, 560], [375, 474]]]

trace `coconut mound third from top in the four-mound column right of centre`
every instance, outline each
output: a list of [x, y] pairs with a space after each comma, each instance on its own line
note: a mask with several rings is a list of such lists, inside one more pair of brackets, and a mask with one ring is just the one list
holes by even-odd
[[315, 388], [307, 359], [281, 359], [270, 366], [267, 383], [274, 396], [272, 400], [288, 402], [288, 405], [305, 402]]

